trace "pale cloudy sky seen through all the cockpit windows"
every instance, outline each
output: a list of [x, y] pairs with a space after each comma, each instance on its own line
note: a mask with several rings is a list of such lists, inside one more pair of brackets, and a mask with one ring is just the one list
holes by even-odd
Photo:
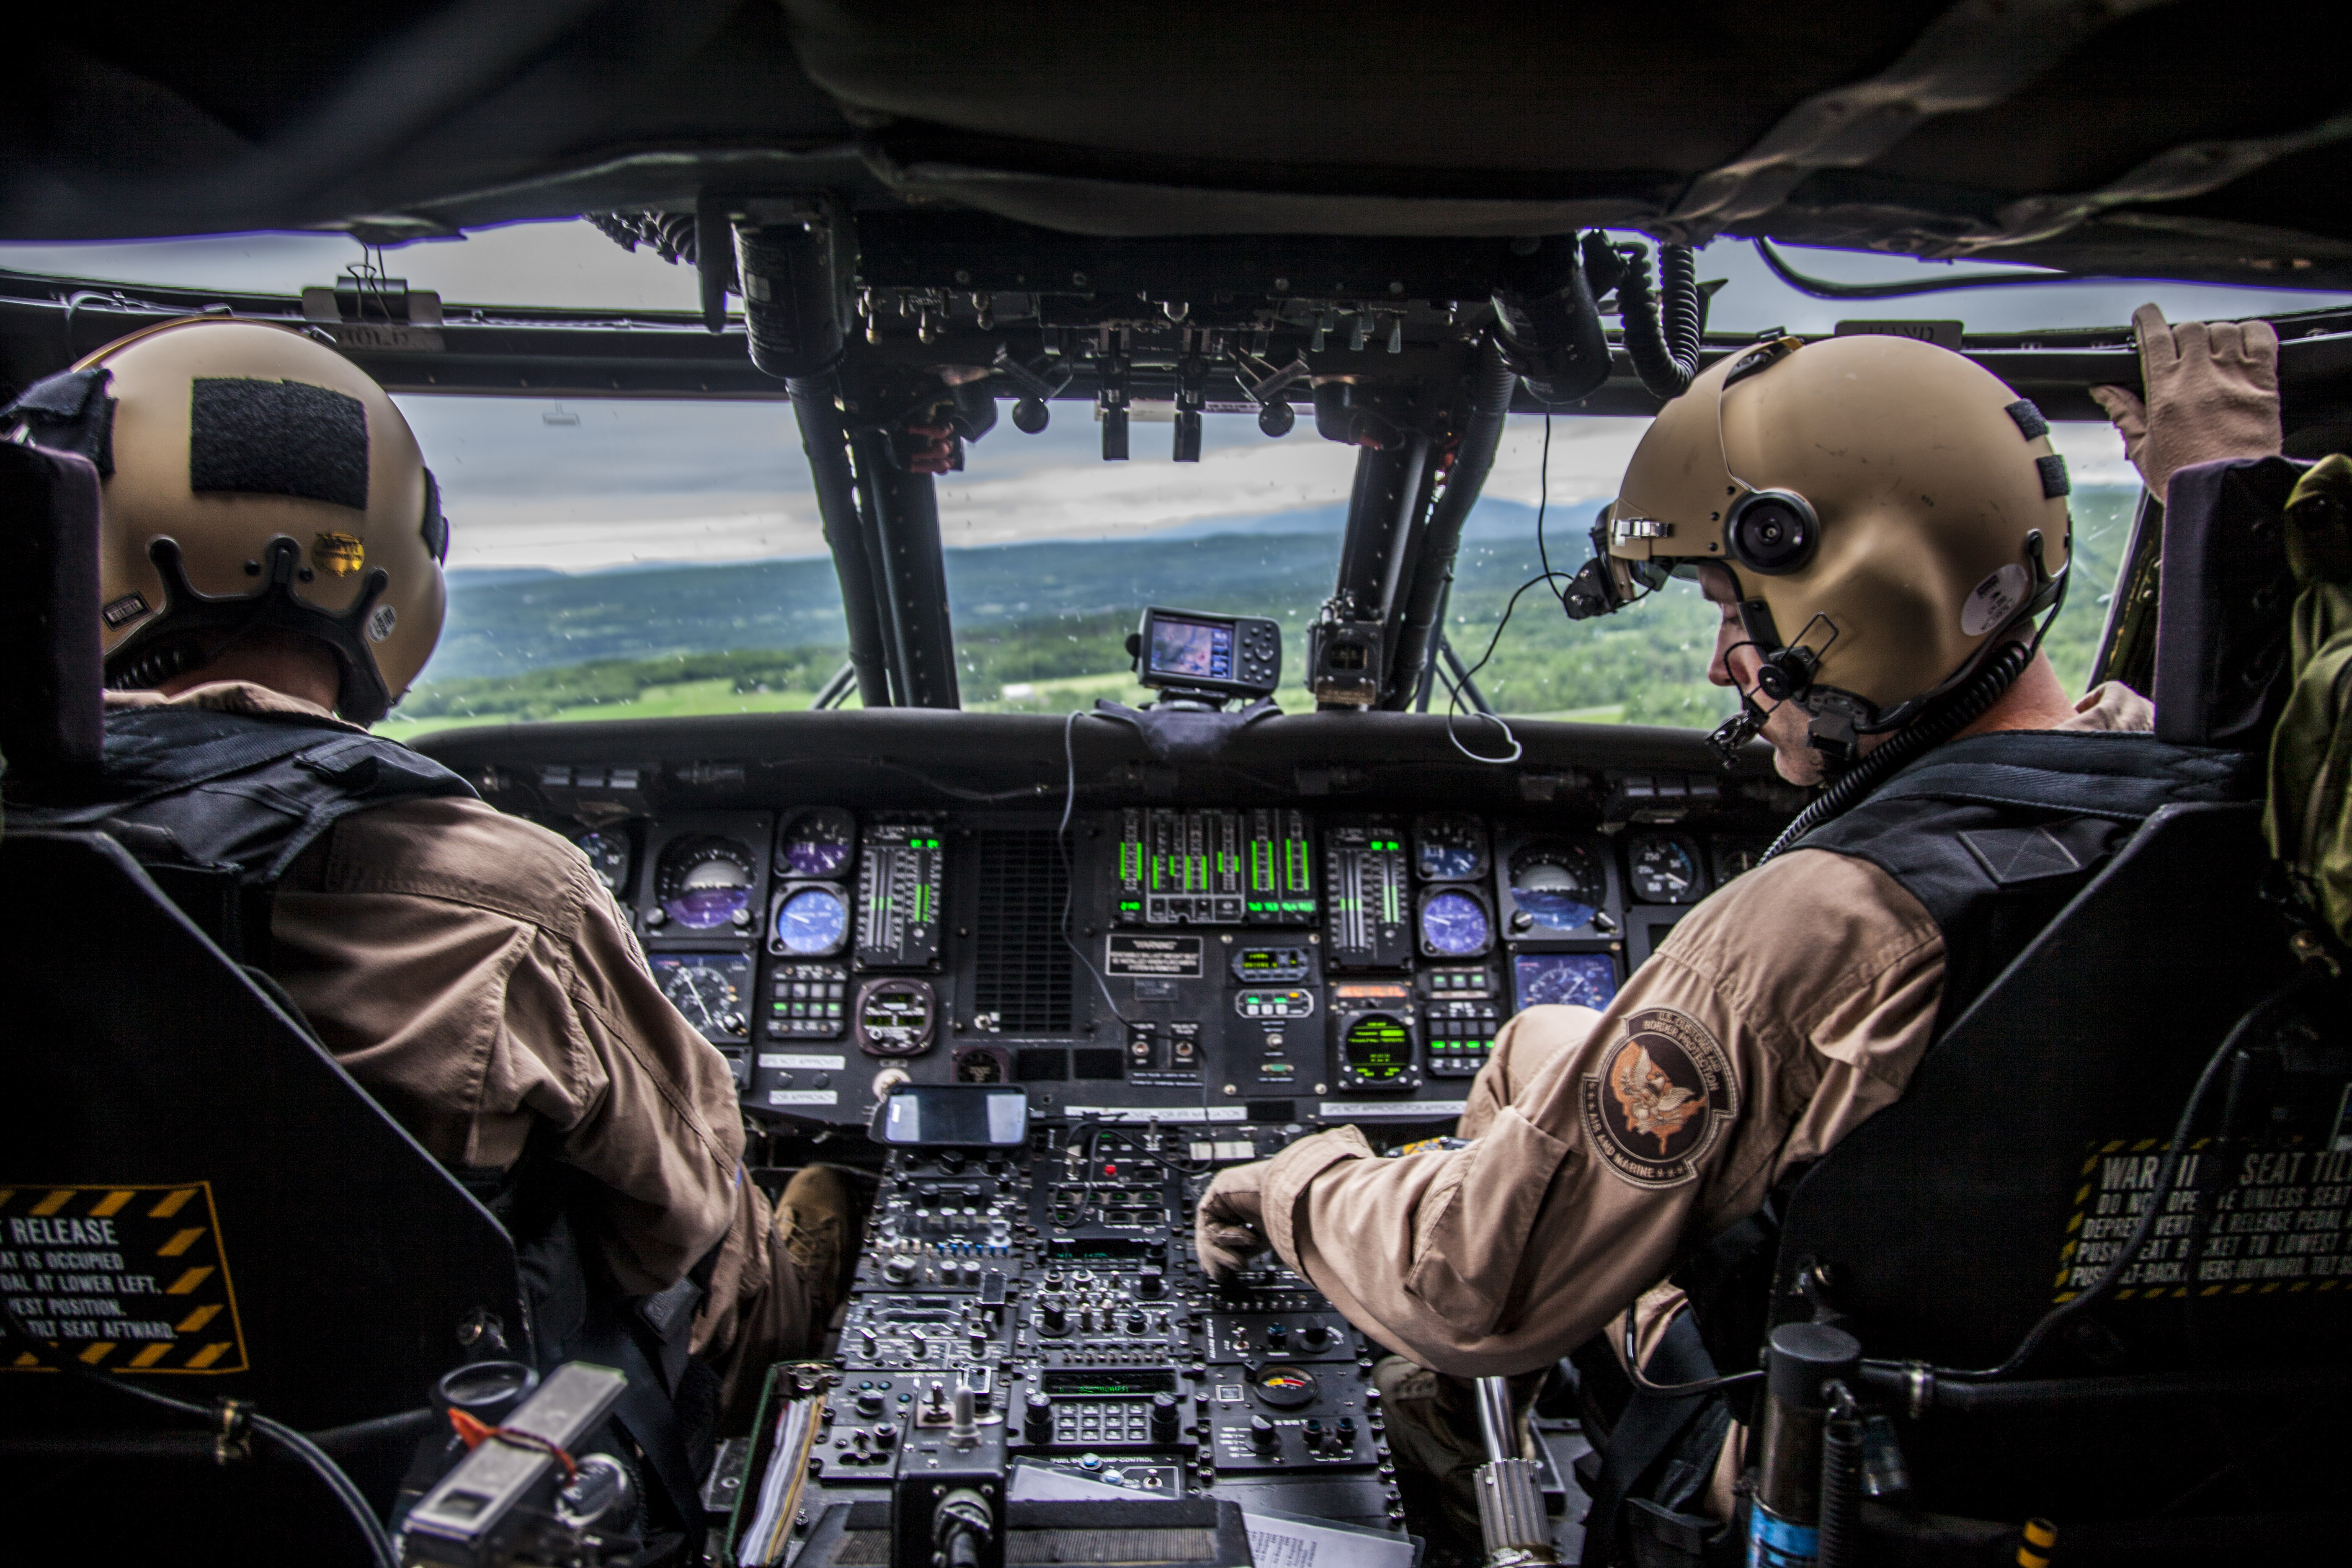
[[[1844, 252], [1788, 252], [1802, 270], [1842, 282], [1959, 275], [1952, 268]], [[108, 244], [0, 244], [0, 268], [146, 284], [294, 292], [329, 282], [360, 259], [339, 235], [226, 235]], [[421, 242], [383, 256], [386, 270], [449, 303], [541, 303], [604, 310], [691, 310], [684, 268], [628, 254], [586, 223], [515, 223], [459, 242]], [[1712, 327], [1828, 331], [1839, 317], [1959, 317], [1973, 331], [2098, 327], [2154, 299], [2173, 320], [2310, 310], [2343, 296], [2288, 289], [2213, 289], [2164, 282], [2082, 282], [1931, 294], [1872, 306], [1816, 301], [1780, 284], [1757, 254], [1719, 242], [1700, 277], [1726, 277]], [[800, 433], [786, 402], [567, 402], [524, 397], [402, 397], [442, 480], [454, 567], [593, 571], [630, 562], [729, 562], [821, 555]], [[1550, 501], [1602, 501], [1632, 456], [1644, 421], [1559, 418], [1552, 425]], [[2056, 425], [2077, 484], [2129, 484], [2122, 444], [2105, 425]], [[1265, 440], [1247, 416], [1209, 416], [1197, 465], [1169, 461], [1169, 428], [1138, 421], [1136, 458], [1103, 463], [1084, 404], [1056, 404], [1035, 437], [1002, 421], [971, 447], [969, 465], [938, 487], [950, 548], [1025, 538], [1103, 538], [1279, 520], [1343, 505], [1355, 473], [1348, 447], [1303, 421]], [[1515, 418], [1486, 494], [1534, 505], [1543, 421]]]

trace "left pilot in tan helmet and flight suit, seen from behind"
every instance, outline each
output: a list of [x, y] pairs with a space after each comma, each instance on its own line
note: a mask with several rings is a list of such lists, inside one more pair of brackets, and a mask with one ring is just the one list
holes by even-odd
[[748, 1415], [842, 1291], [847, 1194], [811, 1166], [771, 1213], [727, 1060], [579, 849], [365, 733], [447, 607], [449, 524], [400, 409], [299, 331], [205, 317], [0, 418], [103, 482], [106, 769], [19, 820], [129, 823], [238, 867], [266, 917], [214, 931], [235, 957], [510, 1225], [520, 1187], [560, 1190], [590, 1291], [691, 1298], [701, 1375]]

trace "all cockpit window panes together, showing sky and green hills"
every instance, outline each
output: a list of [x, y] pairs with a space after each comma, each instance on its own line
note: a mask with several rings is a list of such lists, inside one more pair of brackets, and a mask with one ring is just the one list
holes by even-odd
[[[454, 242], [362, 252], [341, 235], [226, 235], [0, 244], [0, 268], [294, 294], [360, 261], [449, 303], [694, 310], [696, 280], [583, 221], [515, 223]], [[1846, 252], [1780, 252], [1832, 284], [2006, 270]], [[2117, 327], [2143, 301], [2171, 320], [2310, 310], [2343, 296], [2150, 282], [2051, 282], [1839, 301], [1790, 287], [1740, 242], [1700, 254], [1722, 280], [1712, 331], [1825, 334], [1842, 320], [1966, 322], [1971, 334]], [[402, 395], [452, 517], [449, 625], [383, 724], [656, 717], [804, 708], [844, 661], [826, 552], [790, 404]], [[1134, 409], [1134, 458], [1101, 461], [1084, 402], [1040, 435], [1011, 421], [938, 480], [946, 578], [967, 708], [1068, 712], [1138, 703], [1124, 637], [1145, 604], [1268, 616], [1284, 632], [1284, 710], [1305, 628], [1331, 592], [1355, 449], [1308, 421], [1268, 440], [1249, 414], [1204, 418], [1202, 461], [1169, 458], [1171, 409]], [[1710, 726], [1731, 698], [1705, 682], [1715, 614], [1689, 583], [1571, 623], [1543, 569], [1573, 571], [1644, 421], [1515, 416], [1456, 559], [1444, 635], [1494, 708], [1522, 717]], [[2082, 689], [2138, 477], [2107, 425], [2051, 430], [2074, 475], [2077, 576], [2049, 651]], [[1538, 541], [1538, 515], [1543, 534]], [[1529, 585], [1534, 581], [1534, 585]], [[1524, 588], [1524, 592], [1522, 592]], [[1503, 611], [1517, 595], [1508, 625]], [[1501, 635], [1496, 635], [1501, 628]], [[849, 701], [856, 701], [854, 696]], [[1449, 705], [1437, 682], [1430, 708]], [[1463, 698], [1465, 701], [1465, 698]]]

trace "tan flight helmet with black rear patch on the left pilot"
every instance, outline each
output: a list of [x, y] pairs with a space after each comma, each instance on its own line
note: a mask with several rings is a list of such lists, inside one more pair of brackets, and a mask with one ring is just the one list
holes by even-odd
[[334, 649], [336, 710], [374, 724], [447, 611], [449, 524], [409, 423], [358, 364], [299, 331], [165, 322], [19, 397], [14, 440], [101, 477], [106, 684], [198, 668], [221, 632]]

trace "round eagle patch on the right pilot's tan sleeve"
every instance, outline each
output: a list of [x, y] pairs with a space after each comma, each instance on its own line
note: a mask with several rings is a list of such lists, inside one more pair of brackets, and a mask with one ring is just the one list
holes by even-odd
[[1585, 1074], [1585, 1143], [1635, 1187], [1679, 1187], [1740, 1114], [1731, 1058], [1675, 1009], [1630, 1013]]

